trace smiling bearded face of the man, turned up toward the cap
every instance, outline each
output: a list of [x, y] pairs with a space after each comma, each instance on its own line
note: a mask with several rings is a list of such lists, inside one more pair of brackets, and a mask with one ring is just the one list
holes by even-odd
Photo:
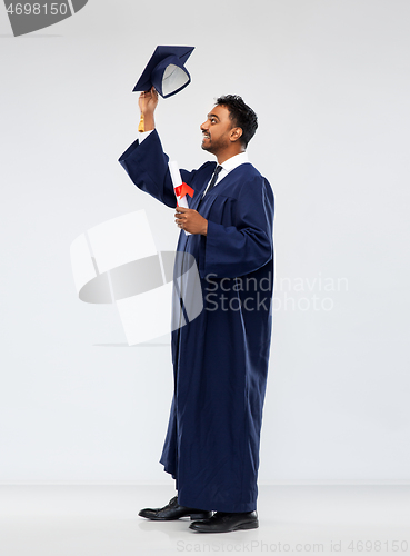
[[207, 121], [200, 126], [202, 131], [202, 149], [217, 155], [229, 147], [232, 127], [228, 108], [219, 105], [213, 107], [207, 117]]

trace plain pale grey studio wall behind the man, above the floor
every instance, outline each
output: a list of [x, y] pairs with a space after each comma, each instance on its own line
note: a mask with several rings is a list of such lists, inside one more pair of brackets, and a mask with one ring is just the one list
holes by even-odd
[[13, 38], [0, 10], [0, 481], [170, 481], [168, 338], [127, 347], [112, 306], [76, 298], [69, 259], [141, 208], [158, 249], [176, 246], [173, 211], [117, 162], [134, 82], [168, 43], [197, 47], [192, 83], [158, 108], [171, 158], [207, 160], [199, 125], [221, 93], [260, 119], [249, 157], [277, 208], [261, 483], [410, 479], [409, 18], [407, 0], [90, 0]]

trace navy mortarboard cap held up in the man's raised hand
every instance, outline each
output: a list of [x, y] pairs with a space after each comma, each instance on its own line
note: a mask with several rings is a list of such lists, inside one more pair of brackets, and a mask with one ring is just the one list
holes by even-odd
[[149, 91], [153, 86], [163, 97], [171, 97], [191, 82], [183, 67], [194, 47], [157, 47], [133, 91]]

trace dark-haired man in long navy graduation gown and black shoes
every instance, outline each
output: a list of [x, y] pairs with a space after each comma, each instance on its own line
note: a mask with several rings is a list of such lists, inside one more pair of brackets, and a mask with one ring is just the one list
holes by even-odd
[[[134, 185], [169, 207], [177, 200], [154, 126], [158, 95], [141, 93], [146, 131], [121, 156]], [[248, 161], [257, 116], [238, 96], [217, 100], [200, 126], [206, 162], [182, 180], [190, 208], [176, 208], [177, 251], [197, 261], [203, 310], [172, 332], [174, 395], [160, 463], [178, 497], [149, 519], [190, 516], [197, 532], [258, 527], [257, 475], [271, 338], [273, 193]], [[182, 257], [183, 259], [183, 257]], [[178, 260], [178, 258], [177, 258]], [[180, 262], [178, 262], [180, 265]], [[181, 304], [183, 310], [183, 302]], [[213, 515], [212, 512], [216, 512]]]

